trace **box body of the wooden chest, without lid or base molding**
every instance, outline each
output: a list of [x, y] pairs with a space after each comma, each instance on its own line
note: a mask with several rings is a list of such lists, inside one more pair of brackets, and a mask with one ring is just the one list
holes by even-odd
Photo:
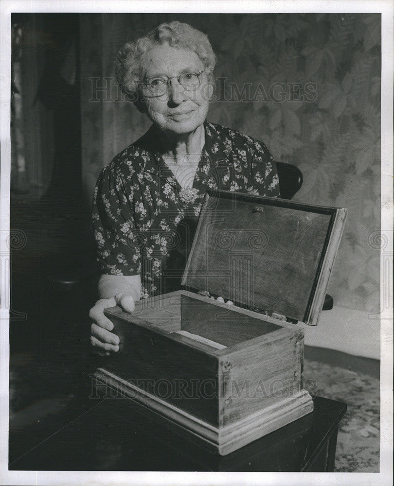
[[[215, 349], [165, 330], [167, 323], [161, 327], [169, 302], [175, 320], [181, 311], [182, 330], [228, 347]], [[183, 291], [139, 302], [136, 312], [126, 314], [118, 307], [105, 311], [121, 340], [106, 369], [170, 408], [222, 427], [301, 390], [304, 331], [300, 328]], [[243, 395], [245, 383], [253, 396]]]

